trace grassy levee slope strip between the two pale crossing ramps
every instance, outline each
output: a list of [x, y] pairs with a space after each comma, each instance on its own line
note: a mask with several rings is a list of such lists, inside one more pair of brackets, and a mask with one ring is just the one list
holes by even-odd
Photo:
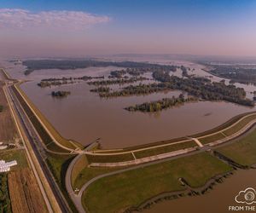
[[155, 147], [151, 149], [146, 149], [143, 151], [134, 152], [134, 155], [136, 156], [136, 158], [146, 158], [149, 156], [154, 156], [162, 153], [171, 153], [171, 152], [189, 148], [189, 147], [197, 147], [197, 145], [195, 144], [195, 141], [191, 140], [187, 142], [171, 144], [165, 147]]

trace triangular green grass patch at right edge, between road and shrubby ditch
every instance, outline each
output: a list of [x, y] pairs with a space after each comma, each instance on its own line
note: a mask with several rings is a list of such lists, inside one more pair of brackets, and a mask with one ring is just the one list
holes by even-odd
[[235, 143], [218, 148], [217, 151], [237, 164], [248, 166], [256, 164], [256, 130], [238, 139]]

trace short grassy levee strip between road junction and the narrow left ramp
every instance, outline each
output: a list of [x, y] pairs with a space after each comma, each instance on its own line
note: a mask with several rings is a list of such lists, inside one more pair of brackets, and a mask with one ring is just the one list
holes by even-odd
[[115, 162], [125, 162], [129, 160], [134, 160], [131, 153], [124, 154], [113, 154], [113, 155], [90, 155], [86, 154], [89, 164], [91, 163], [115, 163]]

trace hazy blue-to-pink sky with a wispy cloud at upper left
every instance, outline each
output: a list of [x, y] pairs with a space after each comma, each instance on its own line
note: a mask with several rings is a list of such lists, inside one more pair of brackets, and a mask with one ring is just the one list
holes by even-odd
[[254, 0], [1, 0], [0, 56], [256, 56]]

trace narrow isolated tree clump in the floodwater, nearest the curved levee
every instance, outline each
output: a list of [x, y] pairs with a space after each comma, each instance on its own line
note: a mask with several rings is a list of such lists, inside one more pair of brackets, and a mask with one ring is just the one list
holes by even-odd
[[169, 107], [177, 107], [177, 106], [183, 105], [185, 102], [197, 101], [197, 100], [198, 99], [196, 97], [184, 98], [184, 95], [180, 94], [178, 97], [172, 96], [172, 98], [163, 98], [160, 101], [145, 102], [143, 104], [137, 104], [135, 106], [125, 107], [125, 110], [130, 112], [136, 112], [136, 111], [159, 112]]

